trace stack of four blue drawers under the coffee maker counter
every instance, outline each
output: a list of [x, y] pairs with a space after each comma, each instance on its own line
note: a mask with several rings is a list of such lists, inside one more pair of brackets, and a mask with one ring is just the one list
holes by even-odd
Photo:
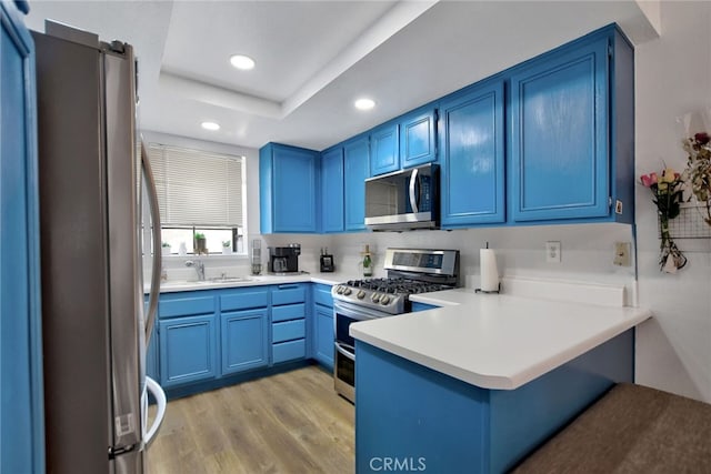
[[271, 289], [271, 361], [273, 364], [307, 356], [306, 316], [306, 284], [282, 284]]

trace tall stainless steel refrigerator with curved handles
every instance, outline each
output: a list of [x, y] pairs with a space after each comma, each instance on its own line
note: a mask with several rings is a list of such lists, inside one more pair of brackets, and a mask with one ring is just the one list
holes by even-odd
[[[160, 224], [151, 194], [159, 271], [147, 309], [140, 189], [150, 173], [137, 152], [133, 49], [50, 21], [32, 38], [47, 472], [142, 473], [164, 394], [146, 377]], [[151, 428], [148, 391], [159, 401]]]

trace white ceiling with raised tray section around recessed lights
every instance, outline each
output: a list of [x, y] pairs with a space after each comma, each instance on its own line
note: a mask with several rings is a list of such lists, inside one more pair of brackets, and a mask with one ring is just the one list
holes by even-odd
[[[30, 8], [31, 29], [43, 31], [49, 18], [134, 46], [146, 130], [317, 150], [610, 22], [634, 43], [658, 28], [654, 2], [637, 1], [92, 0]], [[232, 68], [234, 53], [257, 67]], [[377, 108], [353, 109], [361, 95]], [[221, 129], [202, 130], [203, 121]]]

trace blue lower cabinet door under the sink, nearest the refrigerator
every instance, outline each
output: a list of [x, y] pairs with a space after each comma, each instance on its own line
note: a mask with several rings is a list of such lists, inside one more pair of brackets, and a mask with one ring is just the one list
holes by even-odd
[[160, 381], [163, 387], [217, 376], [214, 314], [160, 321], [159, 332]]

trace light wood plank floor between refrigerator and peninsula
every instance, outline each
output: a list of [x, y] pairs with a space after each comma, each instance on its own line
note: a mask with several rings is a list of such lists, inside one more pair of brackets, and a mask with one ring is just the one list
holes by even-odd
[[148, 451], [149, 474], [352, 473], [353, 417], [314, 365], [179, 399]]

